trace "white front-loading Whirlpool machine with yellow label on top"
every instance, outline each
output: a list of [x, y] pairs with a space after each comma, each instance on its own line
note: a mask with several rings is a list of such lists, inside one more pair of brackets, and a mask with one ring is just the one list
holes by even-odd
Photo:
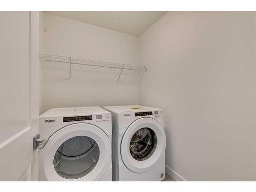
[[165, 176], [163, 110], [146, 106], [104, 106], [112, 113], [114, 181], [161, 181]]

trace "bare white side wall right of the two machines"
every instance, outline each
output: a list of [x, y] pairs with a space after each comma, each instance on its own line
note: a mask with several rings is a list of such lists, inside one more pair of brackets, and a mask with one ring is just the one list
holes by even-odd
[[169, 173], [256, 180], [253, 39], [252, 12], [168, 12], [139, 37], [139, 103], [164, 109]]

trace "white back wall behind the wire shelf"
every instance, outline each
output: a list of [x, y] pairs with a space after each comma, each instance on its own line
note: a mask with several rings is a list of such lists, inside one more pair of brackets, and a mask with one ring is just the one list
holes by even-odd
[[[138, 37], [42, 13], [41, 52], [138, 65]], [[45, 31], [46, 29], [46, 31]], [[40, 113], [53, 107], [138, 104], [137, 72], [42, 62]]]

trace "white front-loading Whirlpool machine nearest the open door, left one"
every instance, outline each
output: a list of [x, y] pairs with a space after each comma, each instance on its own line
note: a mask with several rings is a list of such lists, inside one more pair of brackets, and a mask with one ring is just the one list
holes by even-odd
[[39, 181], [112, 181], [111, 113], [99, 106], [39, 116]]

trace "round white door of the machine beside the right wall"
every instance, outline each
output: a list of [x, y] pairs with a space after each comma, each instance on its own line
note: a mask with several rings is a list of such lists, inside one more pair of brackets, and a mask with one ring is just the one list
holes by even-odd
[[165, 152], [164, 127], [152, 118], [134, 121], [125, 131], [121, 142], [121, 157], [135, 173], [147, 172]]

